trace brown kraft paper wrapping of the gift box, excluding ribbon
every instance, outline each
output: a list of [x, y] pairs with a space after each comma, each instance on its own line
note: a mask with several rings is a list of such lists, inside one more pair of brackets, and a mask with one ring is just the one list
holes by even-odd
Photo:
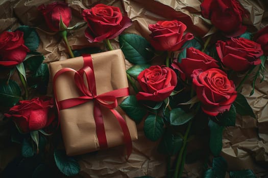
[[[125, 72], [125, 58], [120, 49], [92, 54], [97, 95], [128, 87]], [[50, 64], [52, 76], [62, 68], [79, 70], [83, 67], [83, 57]], [[74, 81], [74, 73], [60, 75], [56, 80], [58, 100], [81, 96]], [[121, 103], [126, 97], [118, 98]], [[101, 106], [108, 147], [124, 144], [124, 135], [113, 113]], [[132, 140], [137, 139], [136, 124], [119, 107], [120, 113], [128, 125]], [[67, 155], [79, 155], [100, 149], [93, 117], [93, 101], [79, 106], [60, 110], [60, 125]]]

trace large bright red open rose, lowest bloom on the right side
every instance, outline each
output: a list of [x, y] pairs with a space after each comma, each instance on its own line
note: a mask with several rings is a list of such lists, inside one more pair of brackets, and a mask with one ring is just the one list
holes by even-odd
[[194, 70], [192, 84], [202, 103], [202, 110], [211, 116], [229, 110], [237, 96], [233, 81], [220, 69]]

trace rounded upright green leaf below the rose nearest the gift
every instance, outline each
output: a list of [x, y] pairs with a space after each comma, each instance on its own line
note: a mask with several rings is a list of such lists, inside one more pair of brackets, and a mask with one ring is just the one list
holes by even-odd
[[149, 115], [144, 122], [143, 131], [149, 140], [158, 140], [164, 132], [163, 118], [158, 115]]

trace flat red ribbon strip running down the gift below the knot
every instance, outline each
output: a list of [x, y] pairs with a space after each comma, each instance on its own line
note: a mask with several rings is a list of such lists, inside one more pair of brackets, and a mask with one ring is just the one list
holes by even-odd
[[99, 140], [100, 149], [107, 149], [107, 138], [103, 123], [103, 116], [98, 101], [94, 101], [94, 120], [96, 125], [96, 134]]

